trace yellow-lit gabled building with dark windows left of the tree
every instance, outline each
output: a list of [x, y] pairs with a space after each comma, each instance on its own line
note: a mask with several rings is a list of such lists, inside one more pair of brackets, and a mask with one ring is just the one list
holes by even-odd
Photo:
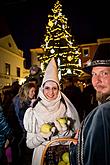
[[23, 52], [17, 48], [10, 34], [0, 38], [0, 90], [16, 80], [19, 84], [25, 81], [29, 70], [24, 68], [24, 60]]

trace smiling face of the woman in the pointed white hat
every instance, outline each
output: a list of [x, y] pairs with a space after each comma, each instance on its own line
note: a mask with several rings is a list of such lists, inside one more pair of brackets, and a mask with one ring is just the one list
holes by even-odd
[[59, 88], [56, 82], [47, 81], [44, 84], [43, 93], [48, 100], [54, 100], [57, 98]]

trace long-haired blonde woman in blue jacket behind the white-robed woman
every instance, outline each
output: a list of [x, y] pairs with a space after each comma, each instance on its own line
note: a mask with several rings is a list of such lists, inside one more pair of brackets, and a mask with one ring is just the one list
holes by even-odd
[[[27, 108], [32, 106], [36, 97], [36, 85], [32, 82], [27, 82], [21, 86], [16, 97], [13, 98], [15, 111], [18, 116], [21, 127], [23, 128], [23, 117]], [[17, 100], [18, 99], [18, 100]], [[19, 103], [18, 103], [19, 102]], [[18, 104], [16, 104], [18, 103]]]

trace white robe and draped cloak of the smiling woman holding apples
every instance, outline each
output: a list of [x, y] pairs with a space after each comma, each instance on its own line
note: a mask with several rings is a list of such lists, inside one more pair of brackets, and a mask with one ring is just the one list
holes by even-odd
[[[42, 94], [41, 94], [42, 95]], [[59, 96], [57, 100], [51, 102], [46, 101], [44, 96], [41, 96], [41, 100], [37, 103], [34, 108], [26, 110], [24, 115], [24, 127], [27, 131], [27, 146], [34, 148], [32, 165], [40, 165], [41, 156], [45, 145], [52, 138], [58, 138], [62, 135], [53, 135], [51, 138], [44, 138], [40, 133], [40, 128], [45, 123], [55, 123], [58, 118], [69, 117], [75, 120], [74, 129], [80, 127], [80, 121], [75, 107], [71, 104], [68, 98], [62, 93], [62, 101]], [[68, 134], [72, 136], [72, 132]]]

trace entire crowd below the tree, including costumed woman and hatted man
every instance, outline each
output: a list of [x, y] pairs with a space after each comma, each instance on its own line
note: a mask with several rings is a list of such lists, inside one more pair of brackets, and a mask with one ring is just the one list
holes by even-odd
[[65, 77], [61, 84], [53, 57], [44, 75], [31, 67], [24, 84], [13, 83], [4, 92], [0, 99], [1, 165], [41, 165], [46, 144], [61, 137], [77, 138], [71, 148], [75, 150], [72, 165], [110, 164], [110, 44], [100, 44], [83, 70], [91, 75], [83, 91], [74, 77]]

